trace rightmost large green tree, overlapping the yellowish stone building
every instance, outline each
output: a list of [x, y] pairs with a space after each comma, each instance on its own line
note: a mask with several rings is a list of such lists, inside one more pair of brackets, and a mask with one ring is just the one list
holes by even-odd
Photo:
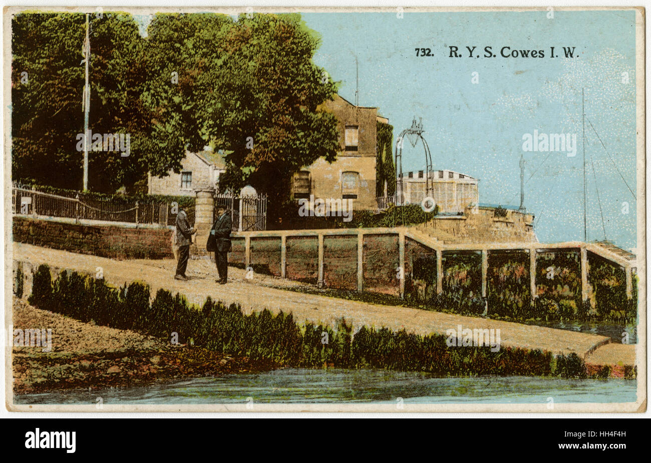
[[[298, 15], [242, 15], [227, 46], [223, 66], [236, 79], [219, 94], [244, 98], [223, 99], [209, 127], [232, 150], [232, 185], [251, 183], [280, 202], [294, 172], [319, 157], [333, 161], [340, 149], [335, 116], [317, 109], [335, 83], [313, 64], [318, 38]], [[249, 174], [238, 178], [243, 168]]]

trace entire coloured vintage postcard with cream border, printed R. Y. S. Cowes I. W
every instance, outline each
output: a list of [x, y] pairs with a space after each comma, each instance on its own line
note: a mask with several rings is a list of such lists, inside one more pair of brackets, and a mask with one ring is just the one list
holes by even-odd
[[9, 410], [646, 410], [644, 8], [3, 20]]

